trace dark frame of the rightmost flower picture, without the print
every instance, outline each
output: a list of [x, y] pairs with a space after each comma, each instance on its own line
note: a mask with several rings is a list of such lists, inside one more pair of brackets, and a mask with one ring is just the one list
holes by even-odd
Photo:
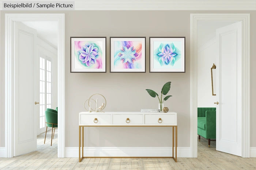
[[[152, 39], [156, 39], [156, 38], [159, 38], [159, 39], [172, 39], [172, 38], [174, 38], [174, 39], [177, 39], [177, 38], [181, 38], [181, 39], [183, 39], [184, 38], [184, 71], [152, 71], [151, 70], [151, 63], [152, 63], [152, 61], [151, 61], [151, 40]], [[186, 37], [149, 37], [149, 72], [150, 73], [185, 73], [185, 69], [186, 69], [186, 60], [185, 60], [185, 57], [186, 57], [186, 55], [185, 55], [185, 53], [186, 53]], [[154, 49], [153, 49], [153, 51], [154, 51]], [[154, 55], [154, 54], [153, 54]], [[154, 59], [154, 58], [153, 58]]]

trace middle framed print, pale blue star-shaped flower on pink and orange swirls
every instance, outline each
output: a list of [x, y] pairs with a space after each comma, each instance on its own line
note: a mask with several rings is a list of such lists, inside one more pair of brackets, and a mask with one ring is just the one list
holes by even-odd
[[110, 37], [110, 72], [146, 72], [146, 37]]

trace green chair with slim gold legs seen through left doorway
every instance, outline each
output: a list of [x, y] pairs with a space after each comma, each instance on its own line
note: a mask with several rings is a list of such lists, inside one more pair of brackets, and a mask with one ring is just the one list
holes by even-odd
[[[45, 138], [46, 138], [47, 128], [52, 127], [52, 138], [51, 138], [51, 146], [52, 146], [52, 139], [54, 138], [55, 128], [58, 127], [58, 112], [56, 110], [47, 108], [45, 111], [45, 120], [46, 120]], [[54, 128], [54, 132], [53, 132], [53, 128]]]

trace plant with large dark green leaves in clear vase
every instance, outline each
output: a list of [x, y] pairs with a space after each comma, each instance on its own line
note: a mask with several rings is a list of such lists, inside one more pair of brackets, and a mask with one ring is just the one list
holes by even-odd
[[161, 90], [161, 100], [160, 100], [160, 98], [159, 98], [157, 92], [155, 92], [154, 90], [146, 89], [147, 92], [148, 92], [148, 94], [149, 94], [151, 97], [155, 98], [155, 96], [157, 96], [157, 98], [158, 98], [158, 100], [159, 100], [159, 104], [158, 104], [158, 109], [159, 109], [159, 111], [162, 111], [162, 108], [163, 108], [163, 101], [165, 101], [165, 100], [167, 100], [167, 99], [169, 99], [169, 98], [171, 97], [171, 95], [165, 96], [165, 98], [163, 98], [163, 100], [162, 100], [162, 96], [163, 96], [163, 95], [166, 95], [166, 94], [169, 92], [170, 88], [171, 88], [171, 82], [167, 82], [167, 83], [165, 83], [165, 84], [163, 85], [163, 88], [162, 88], [162, 90]]

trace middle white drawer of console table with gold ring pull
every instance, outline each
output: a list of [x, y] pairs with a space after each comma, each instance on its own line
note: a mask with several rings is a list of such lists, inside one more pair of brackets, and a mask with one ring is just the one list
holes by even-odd
[[113, 115], [113, 124], [143, 124], [143, 115]]

